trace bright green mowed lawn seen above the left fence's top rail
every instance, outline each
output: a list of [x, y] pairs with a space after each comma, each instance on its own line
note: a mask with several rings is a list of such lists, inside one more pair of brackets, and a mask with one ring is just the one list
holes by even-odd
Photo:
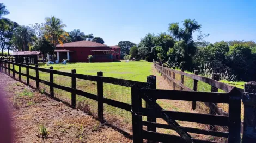
[[[54, 70], [63, 72], [71, 72], [71, 69], [76, 69], [76, 73], [78, 74], [97, 75], [97, 72], [102, 71], [103, 76], [106, 77], [146, 82], [147, 76], [152, 74], [152, 64], [151, 62], [141, 60], [129, 62], [50, 64], [50, 66], [53, 66]], [[39, 64], [41, 68], [49, 68], [50, 66]]]

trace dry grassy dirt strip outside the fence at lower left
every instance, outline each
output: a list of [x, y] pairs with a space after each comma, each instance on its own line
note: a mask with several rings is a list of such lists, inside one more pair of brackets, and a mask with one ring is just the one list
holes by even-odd
[[[48, 98], [11, 77], [0, 73], [5, 100], [11, 114], [15, 142], [132, 142], [124, 135], [62, 102]], [[45, 125], [49, 137], [42, 139], [39, 126]]]

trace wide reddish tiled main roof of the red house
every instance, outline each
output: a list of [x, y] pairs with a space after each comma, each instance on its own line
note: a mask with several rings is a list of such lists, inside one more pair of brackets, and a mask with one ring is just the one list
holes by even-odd
[[63, 46], [58, 44], [56, 47], [108, 47], [108, 46], [101, 43], [83, 40], [83, 41], [65, 43], [63, 44]]

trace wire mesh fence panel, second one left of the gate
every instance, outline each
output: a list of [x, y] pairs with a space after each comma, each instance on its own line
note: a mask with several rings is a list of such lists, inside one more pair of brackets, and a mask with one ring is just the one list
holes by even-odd
[[[83, 92], [91, 93], [97, 95], [97, 82], [76, 79], [76, 89], [82, 90]], [[98, 108], [97, 101], [85, 98], [80, 95], [76, 95], [76, 108], [81, 109], [82, 111], [93, 115], [94, 118], [97, 118]]]

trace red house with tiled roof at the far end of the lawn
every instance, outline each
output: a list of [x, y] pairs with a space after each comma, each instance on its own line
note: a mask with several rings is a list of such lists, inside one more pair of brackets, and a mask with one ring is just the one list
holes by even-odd
[[120, 60], [120, 47], [84, 40], [65, 43], [63, 46], [59, 44], [54, 50], [54, 59], [60, 61], [69, 59], [70, 62], [88, 62], [88, 55], [93, 56], [91, 62], [113, 62]]

